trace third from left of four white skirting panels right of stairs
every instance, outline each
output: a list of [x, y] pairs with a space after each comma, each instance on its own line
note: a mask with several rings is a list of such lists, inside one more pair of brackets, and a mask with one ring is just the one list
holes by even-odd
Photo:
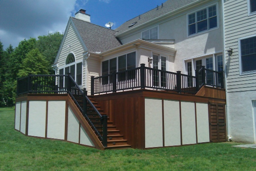
[[196, 143], [195, 103], [181, 102], [182, 144]]

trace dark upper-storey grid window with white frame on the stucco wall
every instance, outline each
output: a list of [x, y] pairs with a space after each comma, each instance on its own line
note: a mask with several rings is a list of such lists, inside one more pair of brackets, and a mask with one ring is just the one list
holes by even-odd
[[188, 35], [217, 27], [216, 5], [188, 15]]

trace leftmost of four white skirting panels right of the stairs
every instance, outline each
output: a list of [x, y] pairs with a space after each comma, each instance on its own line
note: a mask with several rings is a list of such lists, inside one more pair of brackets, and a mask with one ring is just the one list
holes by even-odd
[[162, 100], [145, 98], [145, 147], [162, 146]]

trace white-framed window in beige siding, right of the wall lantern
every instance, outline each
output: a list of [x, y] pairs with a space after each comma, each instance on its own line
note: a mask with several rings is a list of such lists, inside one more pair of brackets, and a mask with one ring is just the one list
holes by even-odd
[[240, 72], [256, 71], [256, 35], [242, 38], [238, 44]]

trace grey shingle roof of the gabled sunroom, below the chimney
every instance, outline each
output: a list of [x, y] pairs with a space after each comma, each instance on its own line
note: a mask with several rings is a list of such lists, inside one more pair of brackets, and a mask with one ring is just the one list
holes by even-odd
[[122, 45], [116, 31], [71, 17], [89, 52], [104, 52]]

